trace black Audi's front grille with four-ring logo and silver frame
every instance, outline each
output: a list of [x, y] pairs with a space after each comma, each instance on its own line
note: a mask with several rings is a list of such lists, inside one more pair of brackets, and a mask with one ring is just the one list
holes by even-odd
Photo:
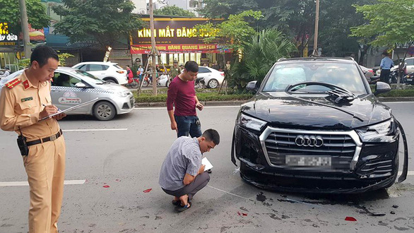
[[[357, 149], [355, 136], [350, 132], [301, 131], [269, 127], [264, 134], [267, 136], [263, 138], [262, 145], [268, 162], [273, 167], [286, 166], [286, 156], [295, 155], [331, 157], [331, 169], [349, 170]], [[316, 139], [317, 143], [315, 143]]]

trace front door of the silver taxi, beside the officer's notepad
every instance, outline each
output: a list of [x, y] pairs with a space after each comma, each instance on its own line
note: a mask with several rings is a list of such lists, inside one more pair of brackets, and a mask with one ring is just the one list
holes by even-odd
[[[64, 78], [62, 78], [64, 77]], [[69, 77], [69, 80], [66, 80]], [[64, 81], [62, 79], [65, 79]], [[54, 78], [50, 95], [52, 96], [52, 103], [59, 109], [67, 109], [76, 104], [90, 100], [89, 88], [76, 88], [76, 83], [82, 83], [82, 80], [69, 73], [54, 72]], [[86, 84], [87, 87], [90, 85]], [[90, 87], [91, 88], [91, 87]], [[79, 107], [69, 112], [69, 114], [87, 114], [90, 109], [89, 105]]]

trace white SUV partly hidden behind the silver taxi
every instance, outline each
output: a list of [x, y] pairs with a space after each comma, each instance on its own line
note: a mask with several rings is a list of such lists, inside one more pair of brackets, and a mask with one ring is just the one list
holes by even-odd
[[126, 70], [121, 68], [121, 66], [118, 66], [117, 63], [112, 63], [110, 61], [87, 61], [76, 64], [72, 67], [78, 68], [81, 71], [86, 71], [93, 76], [110, 83], [117, 83], [119, 85], [128, 83]]

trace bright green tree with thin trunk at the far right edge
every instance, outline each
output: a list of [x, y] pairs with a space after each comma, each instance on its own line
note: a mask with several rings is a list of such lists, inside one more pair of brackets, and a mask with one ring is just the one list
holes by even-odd
[[[378, 4], [357, 6], [369, 21], [351, 28], [352, 36], [371, 39], [370, 44], [396, 48], [399, 45], [412, 46], [414, 43], [414, 0], [378, 0]], [[402, 63], [407, 56], [404, 54]], [[398, 72], [398, 88], [402, 67]]]

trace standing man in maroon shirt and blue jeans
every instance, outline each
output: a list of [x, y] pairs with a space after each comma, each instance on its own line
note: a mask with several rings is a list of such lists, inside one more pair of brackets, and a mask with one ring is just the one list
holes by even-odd
[[196, 108], [201, 111], [203, 104], [199, 102], [194, 90], [194, 80], [198, 73], [199, 65], [196, 61], [187, 61], [184, 72], [175, 77], [168, 88], [167, 111], [171, 129], [177, 131], [177, 138], [189, 135], [198, 138], [202, 134]]

